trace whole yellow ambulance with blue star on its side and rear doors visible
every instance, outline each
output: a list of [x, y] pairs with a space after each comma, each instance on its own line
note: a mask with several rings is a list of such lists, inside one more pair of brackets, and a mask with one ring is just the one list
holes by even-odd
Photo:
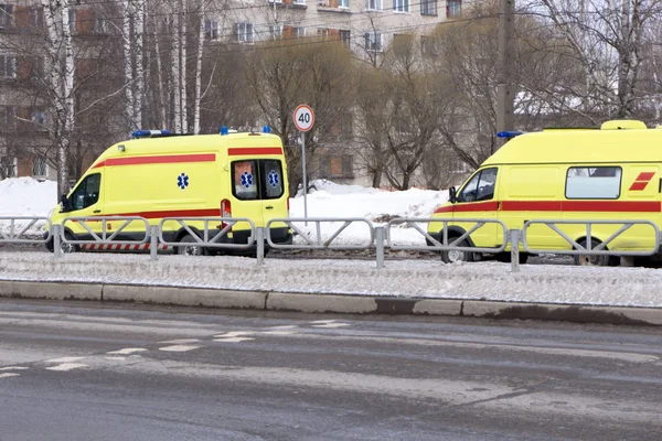
[[[53, 211], [51, 223], [62, 224], [65, 218], [90, 216], [139, 216], [150, 225], [163, 218], [235, 217], [249, 218], [256, 227], [264, 227], [273, 218], [288, 217], [289, 200], [287, 165], [281, 140], [269, 133], [236, 133], [225, 127], [220, 135], [183, 136], [166, 130], [138, 130], [132, 139], [108, 148], [85, 172], [68, 195]], [[115, 224], [115, 225], [114, 225]], [[97, 233], [100, 222], [86, 225]], [[202, 222], [186, 222], [202, 237]], [[107, 232], [119, 227], [109, 223]], [[224, 225], [210, 224], [214, 237]], [[92, 235], [78, 222], [64, 224], [65, 235], [89, 240]], [[117, 240], [141, 240], [145, 223], [134, 222], [122, 229]], [[221, 241], [246, 244], [250, 225], [233, 225]], [[274, 243], [291, 243], [286, 224], [274, 223], [270, 230]], [[170, 243], [193, 243], [195, 239], [177, 222], [167, 222], [163, 238]], [[140, 246], [82, 245], [82, 249], [135, 250]], [[49, 244], [53, 249], [53, 244]], [[78, 247], [63, 246], [65, 251]], [[215, 248], [216, 250], [218, 248]], [[188, 245], [177, 247], [180, 254], [206, 254]]]

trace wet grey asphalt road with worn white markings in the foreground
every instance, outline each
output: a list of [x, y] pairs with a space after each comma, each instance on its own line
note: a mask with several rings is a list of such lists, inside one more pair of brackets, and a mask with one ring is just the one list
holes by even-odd
[[660, 440], [662, 330], [0, 299], [0, 440]]

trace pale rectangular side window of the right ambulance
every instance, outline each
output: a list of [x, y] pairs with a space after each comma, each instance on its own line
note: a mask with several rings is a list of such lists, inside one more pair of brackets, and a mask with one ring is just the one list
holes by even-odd
[[617, 200], [620, 196], [620, 166], [572, 166], [566, 176], [568, 200]]

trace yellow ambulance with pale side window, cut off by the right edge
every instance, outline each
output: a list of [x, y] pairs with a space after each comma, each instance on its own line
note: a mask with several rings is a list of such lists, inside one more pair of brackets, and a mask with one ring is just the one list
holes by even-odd
[[[509, 135], [509, 133], [506, 133]], [[615, 120], [600, 129], [545, 129], [511, 138], [485, 160], [439, 206], [434, 218], [496, 219], [509, 229], [527, 220], [649, 220], [662, 227], [662, 130], [641, 121]], [[448, 237], [458, 238], [474, 223], [448, 224]], [[586, 225], [557, 224], [577, 244], [586, 246]], [[608, 240], [622, 224], [591, 226], [592, 247]], [[444, 224], [429, 223], [428, 234], [440, 239]], [[650, 251], [654, 229], [634, 225], [607, 245], [613, 251]], [[572, 245], [543, 224], [526, 233], [531, 249], [569, 250]], [[429, 240], [428, 240], [429, 241]], [[450, 241], [450, 240], [449, 240]], [[472, 233], [468, 247], [496, 248], [503, 229], [484, 224]], [[521, 248], [523, 249], [523, 248]], [[477, 252], [445, 251], [447, 262], [481, 258]], [[526, 260], [521, 254], [521, 261]], [[496, 255], [508, 261], [510, 252]], [[615, 256], [575, 256], [577, 265], [618, 265]]]

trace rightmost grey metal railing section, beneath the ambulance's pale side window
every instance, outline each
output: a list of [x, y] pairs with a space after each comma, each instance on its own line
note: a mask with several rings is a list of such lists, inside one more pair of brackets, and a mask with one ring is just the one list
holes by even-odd
[[[543, 249], [532, 248], [526, 240], [526, 233], [532, 225], [546, 225], [556, 233], [559, 237], [565, 239], [572, 249]], [[586, 225], [586, 246], [578, 244], [567, 234], [558, 228], [558, 225]], [[622, 225], [617, 232], [611, 234], [608, 238], [602, 240], [595, 248], [592, 247], [592, 226], [594, 225]], [[608, 249], [609, 244], [617, 237], [622, 235], [624, 232], [630, 229], [634, 225], [648, 225], [653, 228], [654, 232], [654, 246], [650, 251], [627, 251], [627, 250], [610, 250]], [[532, 254], [558, 254], [558, 255], [581, 255], [581, 256], [652, 256], [660, 250], [660, 228], [656, 224], [650, 220], [527, 220], [522, 227], [522, 246], [527, 252]]]

